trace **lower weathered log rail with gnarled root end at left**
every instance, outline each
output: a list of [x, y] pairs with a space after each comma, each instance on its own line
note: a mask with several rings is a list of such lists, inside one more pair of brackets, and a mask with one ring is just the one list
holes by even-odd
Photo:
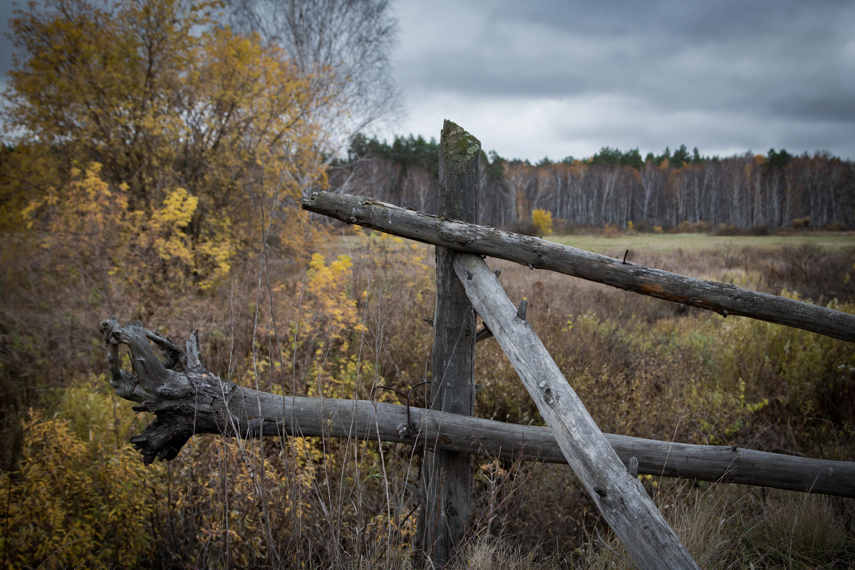
[[[140, 411], [156, 420], [132, 439], [146, 463], [173, 459], [193, 433], [227, 437], [324, 436], [415, 444], [429, 448], [490, 455], [507, 459], [566, 463], [548, 427], [519, 426], [457, 414], [407, 408], [366, 400], [282, 397], [219, 379], [205, 370], [198, 356], [198, 336], [187, 341], [186, 356], [174, 344], [146, 331], [139, 323], [102, 325], [110, 349], [116, 393], [143, 403]], [[152, 339], [166, 354], [161, 363], [151, 350]], [[138, 373], [119, 367], [120, 344], [131, 350]], [[186, 365], [184, 364], [186, 362]], [[177, 374], [177, 376], [176, 376]], [[177, 390], [162, 385], [178, 384]], [[258, 414], [259, 406], [262, 410]], [[825, 461], [746, 450], [726, 445], [675, 444], [605, 434], [621, 461], [639, 461], [639, 473], [761, 485], [841, 497], [855, 497], [855, 462]]]

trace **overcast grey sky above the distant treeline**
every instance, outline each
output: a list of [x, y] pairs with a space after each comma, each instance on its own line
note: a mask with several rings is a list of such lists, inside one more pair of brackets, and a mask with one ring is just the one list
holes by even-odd
[[392, 2], [408, 113], [381, 138], [439, 138], [447, 118], [532, 162], [680, 144], [855, 159], [855, 2]]

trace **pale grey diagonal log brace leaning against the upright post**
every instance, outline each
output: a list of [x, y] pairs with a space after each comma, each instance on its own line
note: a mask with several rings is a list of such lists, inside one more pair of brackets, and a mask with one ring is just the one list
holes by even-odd
[[527, 320], [479, 256], [458, 253], [457, 277], [550, 426], [576, 477], [635, 565], [697, 568], [644, 486], [617, 456]]

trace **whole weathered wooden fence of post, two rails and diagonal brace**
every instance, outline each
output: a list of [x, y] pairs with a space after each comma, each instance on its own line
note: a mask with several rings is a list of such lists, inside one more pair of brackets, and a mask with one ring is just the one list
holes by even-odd
[[[855, 463], [606, 435], [481, 256], [517, 261], [716, 311], [855, 340], [855, 316], [597, 256], [574, 248], [477, 226], [480, 144], [446, 121], [440, 142], [440, 214], [432, 216], [365, 197], [318, 192], [304, 209], [437, 246], [431, 409], [355, 400], [282, 397], [252, 391], [209, 373], [196, 335], [180, 350], [140, 323], [102, 323], [110, 346], [111, 385], [156, 414], [132, 443], [144, 461], [172, 459], [193, 433], [232, 437], [327, 435], [425, 447], [422, 549], [435, 566], [450, 561], [469, 526], [469, 455], [569, 463], [636, 566], [696, 568], [663, 519], [638, 473], [765, 485], [855, 497]], [[475, 314], [481, 315], [516, 368], [548, 427], [472, 418]], [[165, 355], [159, 361], [150, 341]], [[119, 367], [126, 344], [133, 373]]]

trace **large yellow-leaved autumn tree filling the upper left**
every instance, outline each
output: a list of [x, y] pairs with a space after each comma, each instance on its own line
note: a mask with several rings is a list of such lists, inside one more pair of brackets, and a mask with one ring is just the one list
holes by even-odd
[[317, 237], [298, 202], [326, 182], [313, 113], [328, 72], [215, 25], [220, 8], [47, 0], [10, 21], [3, 228], [85, 274], [94, 297], [134, 297], [139, 316], [164, 291], [221, 282], [257, 248], [260, 215], [295, 267]]

